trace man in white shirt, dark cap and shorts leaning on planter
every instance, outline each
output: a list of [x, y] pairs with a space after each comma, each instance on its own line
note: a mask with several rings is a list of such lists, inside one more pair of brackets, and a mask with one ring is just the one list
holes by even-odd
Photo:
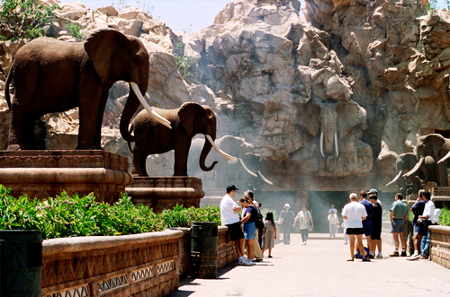
[[238, 188], [235, 185], [227, 187], [227, 195], [220, 200], [220, 220], [222, 225], [228, 227], [230, 240], [234, 240], [236, 253], [238, 254], [238, 265], [250, 266], [253, 264], [245, 255], [246, 241], [240, 227], [238, 214], [240, 206], [233, 200], [237, 191]]

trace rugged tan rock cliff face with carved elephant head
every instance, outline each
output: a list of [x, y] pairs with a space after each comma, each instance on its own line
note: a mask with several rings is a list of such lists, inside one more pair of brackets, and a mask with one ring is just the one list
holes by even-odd
[[[64, 28], [77, 22], [86, 33], [107, 26], [139, 36], [150, 56], [148, 102], [211, 106], [218, 137], [245, 138], [263, 157], [275, 184], [266, 190], [394, 191], [383, 185], [416, 133], [450, 136], [450, 13], [427, 14], [411, 0], [306, 0], [305, 18], [300, 9], [297, 0], [238, 0], [211, 26], [176, 36], [139, 9], [65, 4], [54, 31], [75, 41]], [[1, 45], [4, 74], [20, 47], [8, 42]], [[181, 76], [175, 54], [196, 58], [192, 77]], [[127, 83], [110, 91], [103, 144], [130, 157], [117, 130], [127, 96]], [[0, 109], [7, 131], [7, 108]], [[44, 122], [47, 149], [76, 144], [76, 110]], [[0, 141], [4, 147], [4, 134]], [[171, 174], [170, 157], [149, 159], [149, 172]]]

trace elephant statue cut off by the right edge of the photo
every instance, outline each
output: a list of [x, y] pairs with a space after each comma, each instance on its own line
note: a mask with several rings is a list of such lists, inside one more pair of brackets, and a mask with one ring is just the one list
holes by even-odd
[[419, 170], [425, 158], [430, 156], [437, 162], [437, 187], [448, 187], [447, 167], [450, 166], [450, 139], [439, 134], [416, 135], [416, 166], [405, 173], [404, 177], [409, 177]]

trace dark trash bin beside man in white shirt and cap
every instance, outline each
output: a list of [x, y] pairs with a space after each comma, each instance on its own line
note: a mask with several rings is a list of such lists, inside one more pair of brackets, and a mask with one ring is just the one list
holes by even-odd
[[217, 223], [191, 224], [193, 277], [217, 278]]

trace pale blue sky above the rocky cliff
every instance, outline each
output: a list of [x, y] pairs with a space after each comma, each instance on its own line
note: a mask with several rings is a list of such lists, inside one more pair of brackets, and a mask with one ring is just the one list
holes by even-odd
[[[151, 11], [155, 19], [166, 22], [172, 31], [199, 31], [212, 24], [214, 17], [230, 0], [78, 0], [86, 7], [98, 8], [113, 4]], [[62, 2], [75, 2], [62, 0]], [[301, 0], [304, 7], [304, 0]], [[437, 0], [438, 8], [446, 7], [445, 0]]]

